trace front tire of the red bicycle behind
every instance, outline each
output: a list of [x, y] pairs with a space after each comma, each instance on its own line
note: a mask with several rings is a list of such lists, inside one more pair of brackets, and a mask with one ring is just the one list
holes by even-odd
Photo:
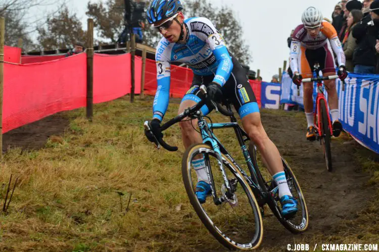
[[329, 128], [329, 119], [327, 116], [327, 110], [325, 105], [325, 100], [320, 99], [320, 108], [321, 110], [321, 134], [323, 137], [321, 137], [321, 144], [323, 147], [324, 152], [324, 158], [326, 163], [326, 170], [331, 172], [333, 169], [332, 163], [331, 163], [331, 149], [330, 149], [330, 128]]

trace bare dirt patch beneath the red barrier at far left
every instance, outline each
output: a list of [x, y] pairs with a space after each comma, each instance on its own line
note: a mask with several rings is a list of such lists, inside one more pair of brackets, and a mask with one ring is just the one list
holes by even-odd
[[62, 113], [45, 117], [5, 133], [3, 135], [3, 150], [7, 150], [9, 147], [42, 148], [51, 135], [63, 135], [68, 126], [69, 119]]

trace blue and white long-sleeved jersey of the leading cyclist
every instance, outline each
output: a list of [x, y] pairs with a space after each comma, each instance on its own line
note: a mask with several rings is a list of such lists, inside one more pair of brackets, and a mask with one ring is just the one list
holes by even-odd
[[158, 87], [153, 104], [153, 118], [162, 121], [167, 111], [170, 90], [171, 62], [185, 63], [196, 75], [214, 75], [213, 81], [223, 86], [233, 69], [225, 41], [207, 18], [184, 21], [185, 43], [159, 42], [155, 54]]

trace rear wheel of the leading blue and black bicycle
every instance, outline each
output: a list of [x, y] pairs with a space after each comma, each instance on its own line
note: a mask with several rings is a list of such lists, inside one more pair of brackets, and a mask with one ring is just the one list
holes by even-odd
[[298, 203], [298, 213], [296, 216], [292, 219], [286, 219], [281, 215], [278, 187], [268, 170], [264, 169], [266, 168], [265, 162], [263, 161], [263, 158], [255, 145], [254, 148], [249, 148], [249, 154], [258, 177], [258, 182], [263, 187], [263, 191], [271, 192], [271, 195], [273, 195], [274, 200], [272, 200], [272, 202], [267, 202], [272, 213], [280, 221], [280, 223], [292, 233], [304, 232], [308, 228], [309, 223], [308, 209], [300, 184], [291, 167], [288, 165], [286, 160], [281, 158], [288, 187], [290, 188], [292, 196], [297, 199]]

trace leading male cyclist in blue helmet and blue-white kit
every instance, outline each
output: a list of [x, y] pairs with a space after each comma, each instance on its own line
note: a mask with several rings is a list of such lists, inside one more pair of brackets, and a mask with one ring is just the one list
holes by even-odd
[[[279, 186], [282, 214], [295, 215], [297, 200], [292, 197], [288, 187], [279, 152], [263, 129], [258, 104], [245, 70], [229, 54], [223, 37], [211, 21], [199, 17], [184, 20], [182, 10], [179, 0], [154, 0], [147, 11], [149, 23], [163, 35], [155, 55], [158, 87], [150, 123], [154, 136], [163, 137], [160, 123], [169, 102], [170, 63], [185, 63], [193, 70], [194, 79], [182, 99], [178, 113], [200, 102], [203, 95], [199, 87], [202, 84], [207, 87], [211, 100], [219, 103], [223, 95], [227, 97], [238, 111], [243, 127], [267, 161], [267, 167]], [[208, 103], [201, 111], [207, 115], [212, 108], [211, 103]], [[194, 129], [197, 127], [196, 120], [182, 121], [179, 125], [186, 148], [202, 142], [202, 137]], [[150, 131], [145, 131], [145, 134], [150, 141], [154, 141]], [[204, 158], [199, 157], [194, 161], [193, 167], [198, 176], [196, 195], [200, 203], [204, 203], [211, 192]]]

